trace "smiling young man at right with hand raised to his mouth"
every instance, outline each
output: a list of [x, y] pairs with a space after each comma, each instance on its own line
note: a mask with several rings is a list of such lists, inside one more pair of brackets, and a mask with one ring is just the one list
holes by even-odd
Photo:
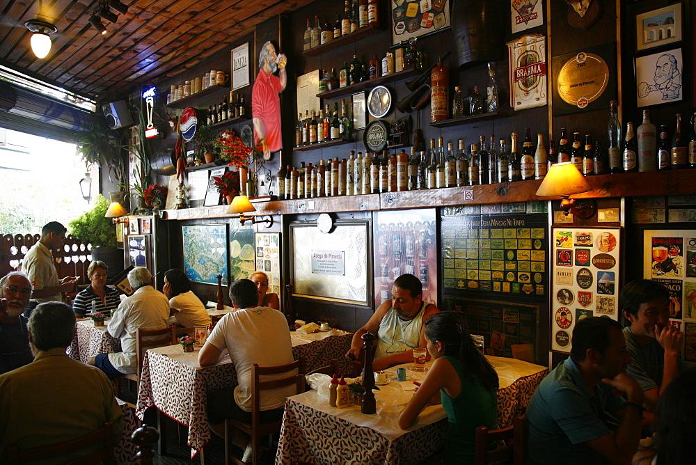
[[619, 295], [619, 308], [630, 322], [624, 328], [632, 359], [626, 372], [642, 388], [645, 406], [655, 411], [660, 394], [679, 375], [684, 343], [683, 333], [670, 326], [670, 291], [648, 279], [631, 281]]

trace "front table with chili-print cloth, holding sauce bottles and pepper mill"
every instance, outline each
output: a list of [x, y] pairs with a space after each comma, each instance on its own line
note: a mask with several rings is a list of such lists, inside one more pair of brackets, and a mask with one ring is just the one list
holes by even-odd
[[[498, 427], [512, 425], [548, 368], [516, 358], [486, 358], [498, 372]], [[430, 365], [432, 361], [426, 368]], [[406, 369], [406, 381], [397, 381], [397, 368]], [[427, 373], [414, 370], [412, 363], [385, 371], [388, 382], [374, 391], [374, 414], [361, 413], [359, 405], [331, 407], [325, 384], [324, 389], [288, 397], [276, 464], [413, 464], [441, 449], [448, 425], [441, 404], [427, 405], [408, 429], [397, 426], [399, 413], [415, 391], [413, 381], [422, 381]]]

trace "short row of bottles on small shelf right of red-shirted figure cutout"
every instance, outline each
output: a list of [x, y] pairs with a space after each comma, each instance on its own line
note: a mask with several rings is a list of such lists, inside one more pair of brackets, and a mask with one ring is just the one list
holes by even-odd
[[[317, 118], [318, 116], [318, 118]], [[311, 145], [325, 141], [350, 141], [353, 132], [353, 120], [349, 118], [346, 110], [346, 100], [341, 100], [341, 113], [338, 113], [338, 102], [333, 103], [333, 114], [329, 111], [329, 104], [325, 110], [310, 114], [305, 110], [304, 118], [299, 113], [295, 127], [295, 145]]]

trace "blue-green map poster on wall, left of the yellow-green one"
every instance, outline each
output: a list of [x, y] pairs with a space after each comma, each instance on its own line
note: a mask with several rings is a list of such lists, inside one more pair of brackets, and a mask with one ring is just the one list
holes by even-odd
[[227, 283], [227, 225], [184, 226], [184, 272], [196, 283], [217, 284], [217, 276]]

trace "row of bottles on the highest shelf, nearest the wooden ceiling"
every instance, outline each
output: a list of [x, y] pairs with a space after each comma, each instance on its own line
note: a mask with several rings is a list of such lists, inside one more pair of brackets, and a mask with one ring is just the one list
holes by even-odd
[[379, 25], [379, 8], [377, 0], [345, 0], [343, 15], [338, 13], [335, 22], [319, 22], [319, 15], [314, 17], [315, 26], [307, 18], [307, 29], [304, 33], [303, 51], [306, 52], [319, 45], [331, 42], [342, 36], [348, 36], [358, 29]]

